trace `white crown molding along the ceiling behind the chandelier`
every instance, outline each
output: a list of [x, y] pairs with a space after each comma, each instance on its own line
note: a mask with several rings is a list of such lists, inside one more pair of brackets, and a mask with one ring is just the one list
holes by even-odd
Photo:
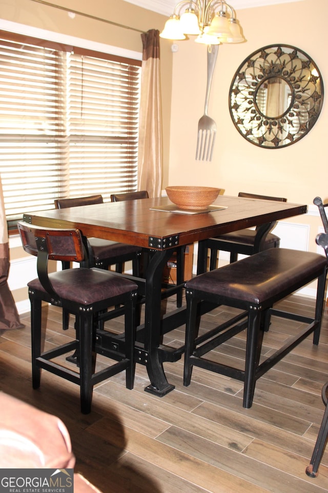
[[[147, 10], [152, 10], [159, 14], [171, 15], [178, 0], [125, 0], [130, 4], [137, 5]], [[248, 9], [254, 7], [265, 7], [276, 4], [289, 4], [293, 2], [303, 2], [304, 0], [228, 0], [231, 6], [238, 9]]]

